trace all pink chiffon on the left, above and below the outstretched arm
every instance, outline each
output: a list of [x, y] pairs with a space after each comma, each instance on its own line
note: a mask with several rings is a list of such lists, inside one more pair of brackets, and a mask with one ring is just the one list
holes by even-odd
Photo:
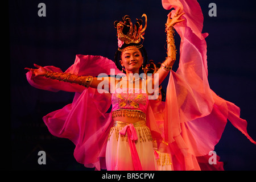
[[[53, 66], [45, 68], [62, 72]], [[114, 62], [106, 57], [76, 55], [75, 63], [65, 73], [85, 76], [98, 76], [100, 73], [111, 75], [110, 69], [114, 69], [115, 74], [122, 73]], [[31, 72], [27, 73], [27, 80], [35, 88], [52, 92], [75, 92], [72, 104], [47, 114], [43, 121], [52, 135], [68, 138], [76, 145], [74, 156], [77, 162], [85, 167], [95, 167], [96, 170], [106, 169], [106, 139], [112, 123], [112, 113], [107, 112], [111, 106], [110, 93], [100, 94], [97, 89], [86, 89], [77, 84], [45, 77], [33, 78]]]

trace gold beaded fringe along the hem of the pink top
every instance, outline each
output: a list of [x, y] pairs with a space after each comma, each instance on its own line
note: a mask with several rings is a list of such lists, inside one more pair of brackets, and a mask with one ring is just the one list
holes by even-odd
[[117, 117], [138, 118], [146, 121], [146, 114], [141, 110], [118, 109], [112, 112], [112, 118]]

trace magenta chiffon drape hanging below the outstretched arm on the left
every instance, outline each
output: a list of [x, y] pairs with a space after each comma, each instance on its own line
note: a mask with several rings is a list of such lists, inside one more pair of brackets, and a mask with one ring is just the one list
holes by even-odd
[[100, 94], [89, 88], [76, 93], [72, 104], [47, 114], [43, 121], [52, 135], [72, 140], [77, 162], [106, 169], [105, 146], [112, 123], [112, 113], [106, 111], [110, 105], [109, 93]]

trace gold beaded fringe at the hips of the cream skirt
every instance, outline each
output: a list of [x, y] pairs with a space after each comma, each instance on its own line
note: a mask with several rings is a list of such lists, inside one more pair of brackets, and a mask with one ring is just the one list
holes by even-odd
[[[115, 134], [115, 138], [117, 139], [117, 141], [118, 141], [119, 138], [121, 138], [122, 141], [127, 142], [128, 141], [127, 133], [125, 135], [119, 134], [119, 131], [122, 130], [122, 129], [123, 129], [123, 127], [117, 127], [117, 126], [112, 127], [109, 131], [108, 140], [110, 139], [112, 134]], [[137, 129], [137, 131], [139, 133], [138, 140], [140, 142], [146, 142], [146, 140], [148, 140], [148, 141], [153, 140], [150, 129], [147, 126], [135, 127], [135, 129]], [[137, 141], [135, 141], [135, 142], [137, 142]]]

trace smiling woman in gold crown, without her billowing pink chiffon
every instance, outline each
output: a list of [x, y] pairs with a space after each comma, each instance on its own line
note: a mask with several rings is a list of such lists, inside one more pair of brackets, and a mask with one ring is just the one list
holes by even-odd
[[[126, 76], [120, 79], [111, 76], [105, 77], [103, 86], [100, 86], [102, 85], [102, 79], [93, 76], [53, 72], [36, 64], [35, 67], [38, 69], [25, 68], [32, 72], [32, 79], [44, 76], [52, 80], [79, 84], [86, 88], [101, 88], [112, 93], [112, 122], [114, 126], [109, 130], [105, 154], [108, 170], [157, 169], [152, 143], [153, 138], [146, 123], [148, 122], [146, 119], [148, 95], [154, 94], [152, 90], [158, 89], [158, 86], [154, 88], [154, 85], [161, 84], [176, 60], [173, 26], [183, 21], [183, 19], [180, 19], [183, 14], [179, 14], [179, 11], [177, 11], [174, 18], [171, 18], [171, 13], [168, 16], [166, 23], [167, 57], [162, 63], [161, 69], [158, 69], [155, 73], [155, 75], [158, 75], [157, 78], [138, 77], [141, 69], [147, 64], [147, 54], [141, 44], [141, 39], [144, 39], [146, 24], [142, 29], [142, 20], [139, 19], [133, 26], [127, 15], [123, 18], [123, 21], [114, 23], [118, 32], [119, 47], [115, 53], [115, 64], [117, 67], [119, 67], [119, 64], [121, 65], [122, 71], [126, 72]], [[145, 16], [147, 23], [146, 15], [143, 14], [143, 16]], [[48, 126], [48, 128], [51, 127]], [[51, 131], [51, 129], [49, 130]]]

